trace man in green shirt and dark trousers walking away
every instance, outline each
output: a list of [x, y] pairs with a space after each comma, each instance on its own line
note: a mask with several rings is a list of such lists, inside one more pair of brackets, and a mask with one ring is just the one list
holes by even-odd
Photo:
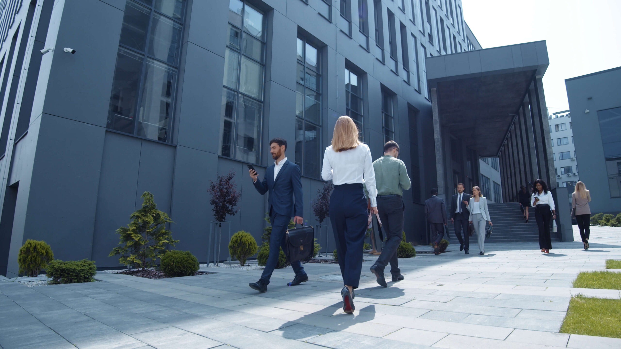
[[403, 189], [410, 189], [412, 183], [407, 176], [406, 164], [397, 159], [399, 145], [389, 140], [384, 145], [384, 156], [373, 161], [375, 171], [375, 185], [378, 188], [378, 211], [382, 221], [382, 231], [388, 237], [386, 246], [378, 260], [371, 266], [371, 273], [375, 274], [380, 286], [388, 287], [384, 278], [384, 268], [390, 263], [392, 281], [404, 279], [397, 262], [397, 247], [401, 243], [403, 231]]

